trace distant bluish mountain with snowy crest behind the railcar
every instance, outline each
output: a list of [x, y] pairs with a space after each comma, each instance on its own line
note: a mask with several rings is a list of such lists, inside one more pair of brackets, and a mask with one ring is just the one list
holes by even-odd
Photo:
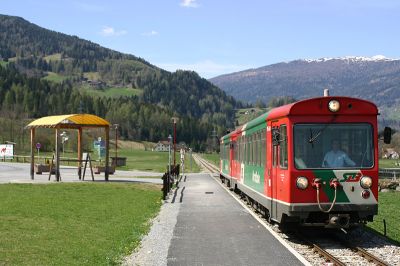
[[[399, 117], [400, 60], [384, 56], [301, 59], [248, 69], [210, 79], [229, 95], [268, 103], [274, 97], [303, 99], [331, 95], [376, 103], [390, 118]], [[390, 110], [390, 112], [388, 112]]]

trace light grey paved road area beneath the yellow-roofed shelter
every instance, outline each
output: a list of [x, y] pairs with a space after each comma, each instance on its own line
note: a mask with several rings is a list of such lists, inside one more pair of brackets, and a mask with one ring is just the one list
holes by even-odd
[[[81, 182], [78, 179], [77, 167], [62, 166], [60, 174], [63, 182]], [[143, 172], [143, 171], [120, 171], [117, 170], [114, 175], [110, 175], [111, 182], [139, 182], [162, 184], [161, 176], [163, 173]], [[55, 180], [52, 175], [48, 181], [49, 173], [42, 175], [35, 174], [35, 180], [30, 177], [30, 164], [28, 163], [7, 163], [0, 162], [0, 183], [53, 183]], [[137, 178], [146, 177], [146, 178]], [[104, 173], [94, 175], [95, 181], [104, 181]], [[86, 169], [85, 181], [91, 181], [90, 169]]]

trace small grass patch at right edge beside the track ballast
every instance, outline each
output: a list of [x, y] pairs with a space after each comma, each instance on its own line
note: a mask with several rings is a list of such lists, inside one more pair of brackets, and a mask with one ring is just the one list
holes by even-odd
[[379, 213], [374, 217], [374, 222], [367, 226], [383, 234], [383, 219], [386, 220], [387, 237], [400, 244], [400, 219], [399, 219], [399, 192], [379, 193]]

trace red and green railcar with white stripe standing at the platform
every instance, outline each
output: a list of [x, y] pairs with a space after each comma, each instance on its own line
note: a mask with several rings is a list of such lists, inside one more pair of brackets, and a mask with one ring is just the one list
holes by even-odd
[[378, 211], [377, 115], [375, 104], [350, 97], [272, 109], [221, 138], [221, 179], [279, 223], [348, 227], [372, 221]]

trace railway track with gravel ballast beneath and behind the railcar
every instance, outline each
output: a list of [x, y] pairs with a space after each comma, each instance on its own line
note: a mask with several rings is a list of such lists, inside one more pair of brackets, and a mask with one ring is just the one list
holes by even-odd
[[[207, 160], [202, 157], [196, 155], [195, 159], [203, 165], [210, 173], [216, 174], [219, 173], [219, 169], [209, 163]], [[231, 192], [234, 194], [233, 192]], [[238, 195], [234, 195], [235, 197], [241, 199], [247, 205], [249, 202], [244, 200]], [[266, 218], [255, 208], [253, 208], [253, 204], [250, 203], [251, 209], [253, 212], [258, 215], [260, 218], [267, 222]], [[269, 224], [271, 227], [274, 227], [272, 224]], [[276, 226], [274, 228], [276, 231]], [[279, 231], [279, 230], [278, 230]], [[328, 263], [327, 265], [379, 265], [379, 266], [387, 266], [392, 265], [381, 258], [371, 254], [364, 248], [361, 248], [358, 245], [355, 245], [346, 239], [343, 236], [338, 236], [338, 233], [328, 233], [324, 234], [323, 237], [315, 238], [310, 237], [313, 235], [312, 233], [308, 233], [307, 237], [304, 234], [294, 232], [280, 232], [283, 234], [283, 238], [288, 242], [303, 242], [304, 244], [300, 249], [302, 249], [299, 253], [307, 253], [304, 249], [308, 249], [309, 254], [307, 259], [313, 265], [321, 265], [321, 263]], [[314, 232], [315, 234], [315, 232]], [[290, 244], [290, 243], [289, 243]], [[314, 255], [313, 255], [314, 254]], [[315, 256], [316, 255], [316, 256]], [[311, 259], [310, 259], [311, 258]]]

